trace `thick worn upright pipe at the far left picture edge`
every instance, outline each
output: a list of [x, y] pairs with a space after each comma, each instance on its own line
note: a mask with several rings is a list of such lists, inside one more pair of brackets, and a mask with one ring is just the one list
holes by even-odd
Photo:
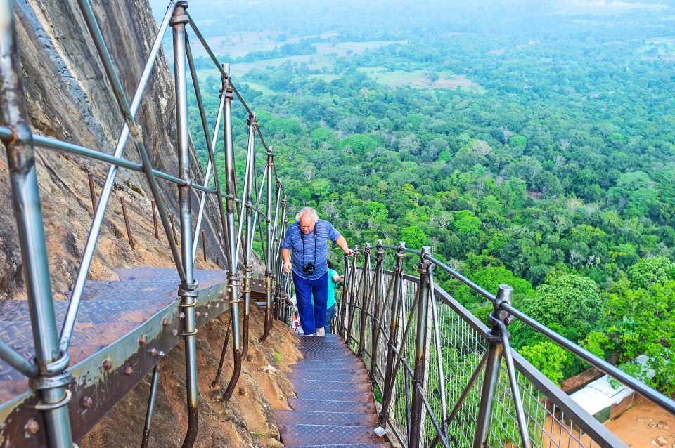
[[[7, 150], [14, 217], [23, 258], [35, 361], [40, 374], [35, 378], [36, 382], [31, 382], [31, 387], [40, 390], [43, 404], [51, 408], [44, 409], [49, 447], [70, 448], [70, 416], [65, 405], [70, 398], [68, 384], [71, 377], [70, 374], [55, 375], [68, 368], [70, 358], [58, 347], [32, 132], [21, 81], [14, 11], [9, 0], [0, 0], [0, 121], [9, 124], [13, 131], [12, 138], [3, 143]], [[15, 360], [6, 345], [1, 347], [6, 357]], [[25, 369], [23, 362], [13, 364]], [[54, 381], [57, 379], [60, 381]]]

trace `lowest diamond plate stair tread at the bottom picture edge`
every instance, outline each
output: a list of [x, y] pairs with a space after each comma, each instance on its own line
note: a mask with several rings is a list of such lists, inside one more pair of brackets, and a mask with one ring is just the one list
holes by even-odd
[[384, 437], [373, 433], [374, 426], [340, 425], [279, 425], [284, 447], [312, 444], [357, 444], [385, 442]]

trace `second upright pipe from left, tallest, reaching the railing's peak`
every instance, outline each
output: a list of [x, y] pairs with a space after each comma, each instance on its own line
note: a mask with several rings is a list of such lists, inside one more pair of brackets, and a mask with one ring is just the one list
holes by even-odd
[[198, 386], [197, 386], [197, 345], [195, 305], [197, 285], [194, 278], [192, 258], [192, 178], [190, 174], [190, 129], [188, 127], [188, 93], [186, 80], [186, 1], [179, 1], [171, 20], [174, 44], [174, 84], [176, 88], [176, 136], [178, 137], [178, 172], [186, 185], [179, 187], [179, 208], [181, 212], [181, 261], [185, 274], [181, 279], [181, 307], [184, 310], [185, 341], [185, 383], [188, 428], [183, 448], [191, 448], [199, 428]]

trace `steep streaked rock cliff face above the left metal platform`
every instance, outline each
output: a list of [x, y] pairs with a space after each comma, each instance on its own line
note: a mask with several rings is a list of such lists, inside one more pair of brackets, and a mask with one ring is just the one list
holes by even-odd
[[[158, 24], [147, 0], [94, 1], [94, 13], [131, 101]], [[112, 154], [124, 121], [77, 1], [18, 0], [15, 1], [15, 20], [34, 131]], [[155, 169], [177, 175], [173, 82], [165, 55], [160, 52], [137, 119]], [[132, 143], [127, 143], [124, 157], [139, 162]], [[52, 286], [56, 298], [63, 299], [63, 293], [75, 280], [91, 227], [87, 173], [94, 174], [98, 197], [108, 165], [41, 148], [36, 149], [36, 158]], [[191, 171], [193, 180], [202, 183], [202, 170], [194, 152]], [[159, 182], [169, 211], [176, 216], [176, 185], [164, 180]], [[171, 266], [161, 222], [160, 239], [154, 236], [152, 197], [143, 173], [120, 169], [114, 190], [89, 278], [116, 279], [111, 268], [119, 266]], [[0, 299], [21, 298], [25, 294], [10, 192], [6, 152], [2, 146]], [[131, 249], [127, 241], [120, 197], [127, 203], [135, 249]], [[197, 195], [193, 195], [193, 207], [196, 212]], [[217, 203], [210, 197], [203, 223], [209, 261], [198, 261], [197, 268], [216, 268], [217, 256], [220, 263], [224, 263], [224, 253], [217, 244], [221, 233], [217, 217]], [[178, 220], [175, 224], [178, 231]], [[201, 251], [198, 260], [203, 260]]]

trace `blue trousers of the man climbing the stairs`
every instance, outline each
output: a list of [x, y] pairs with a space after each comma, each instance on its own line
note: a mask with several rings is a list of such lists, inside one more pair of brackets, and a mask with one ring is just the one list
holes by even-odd
[[[314, 334], [317, 328], [324, 327], [326, 324], [328, 272], [316, 280], [306, 280], [300, 275], [293, 275], [293, 283], [302, 331], [304, 334]], [[314, 296], [314, 306], [311, 305], [311, 296]]]

